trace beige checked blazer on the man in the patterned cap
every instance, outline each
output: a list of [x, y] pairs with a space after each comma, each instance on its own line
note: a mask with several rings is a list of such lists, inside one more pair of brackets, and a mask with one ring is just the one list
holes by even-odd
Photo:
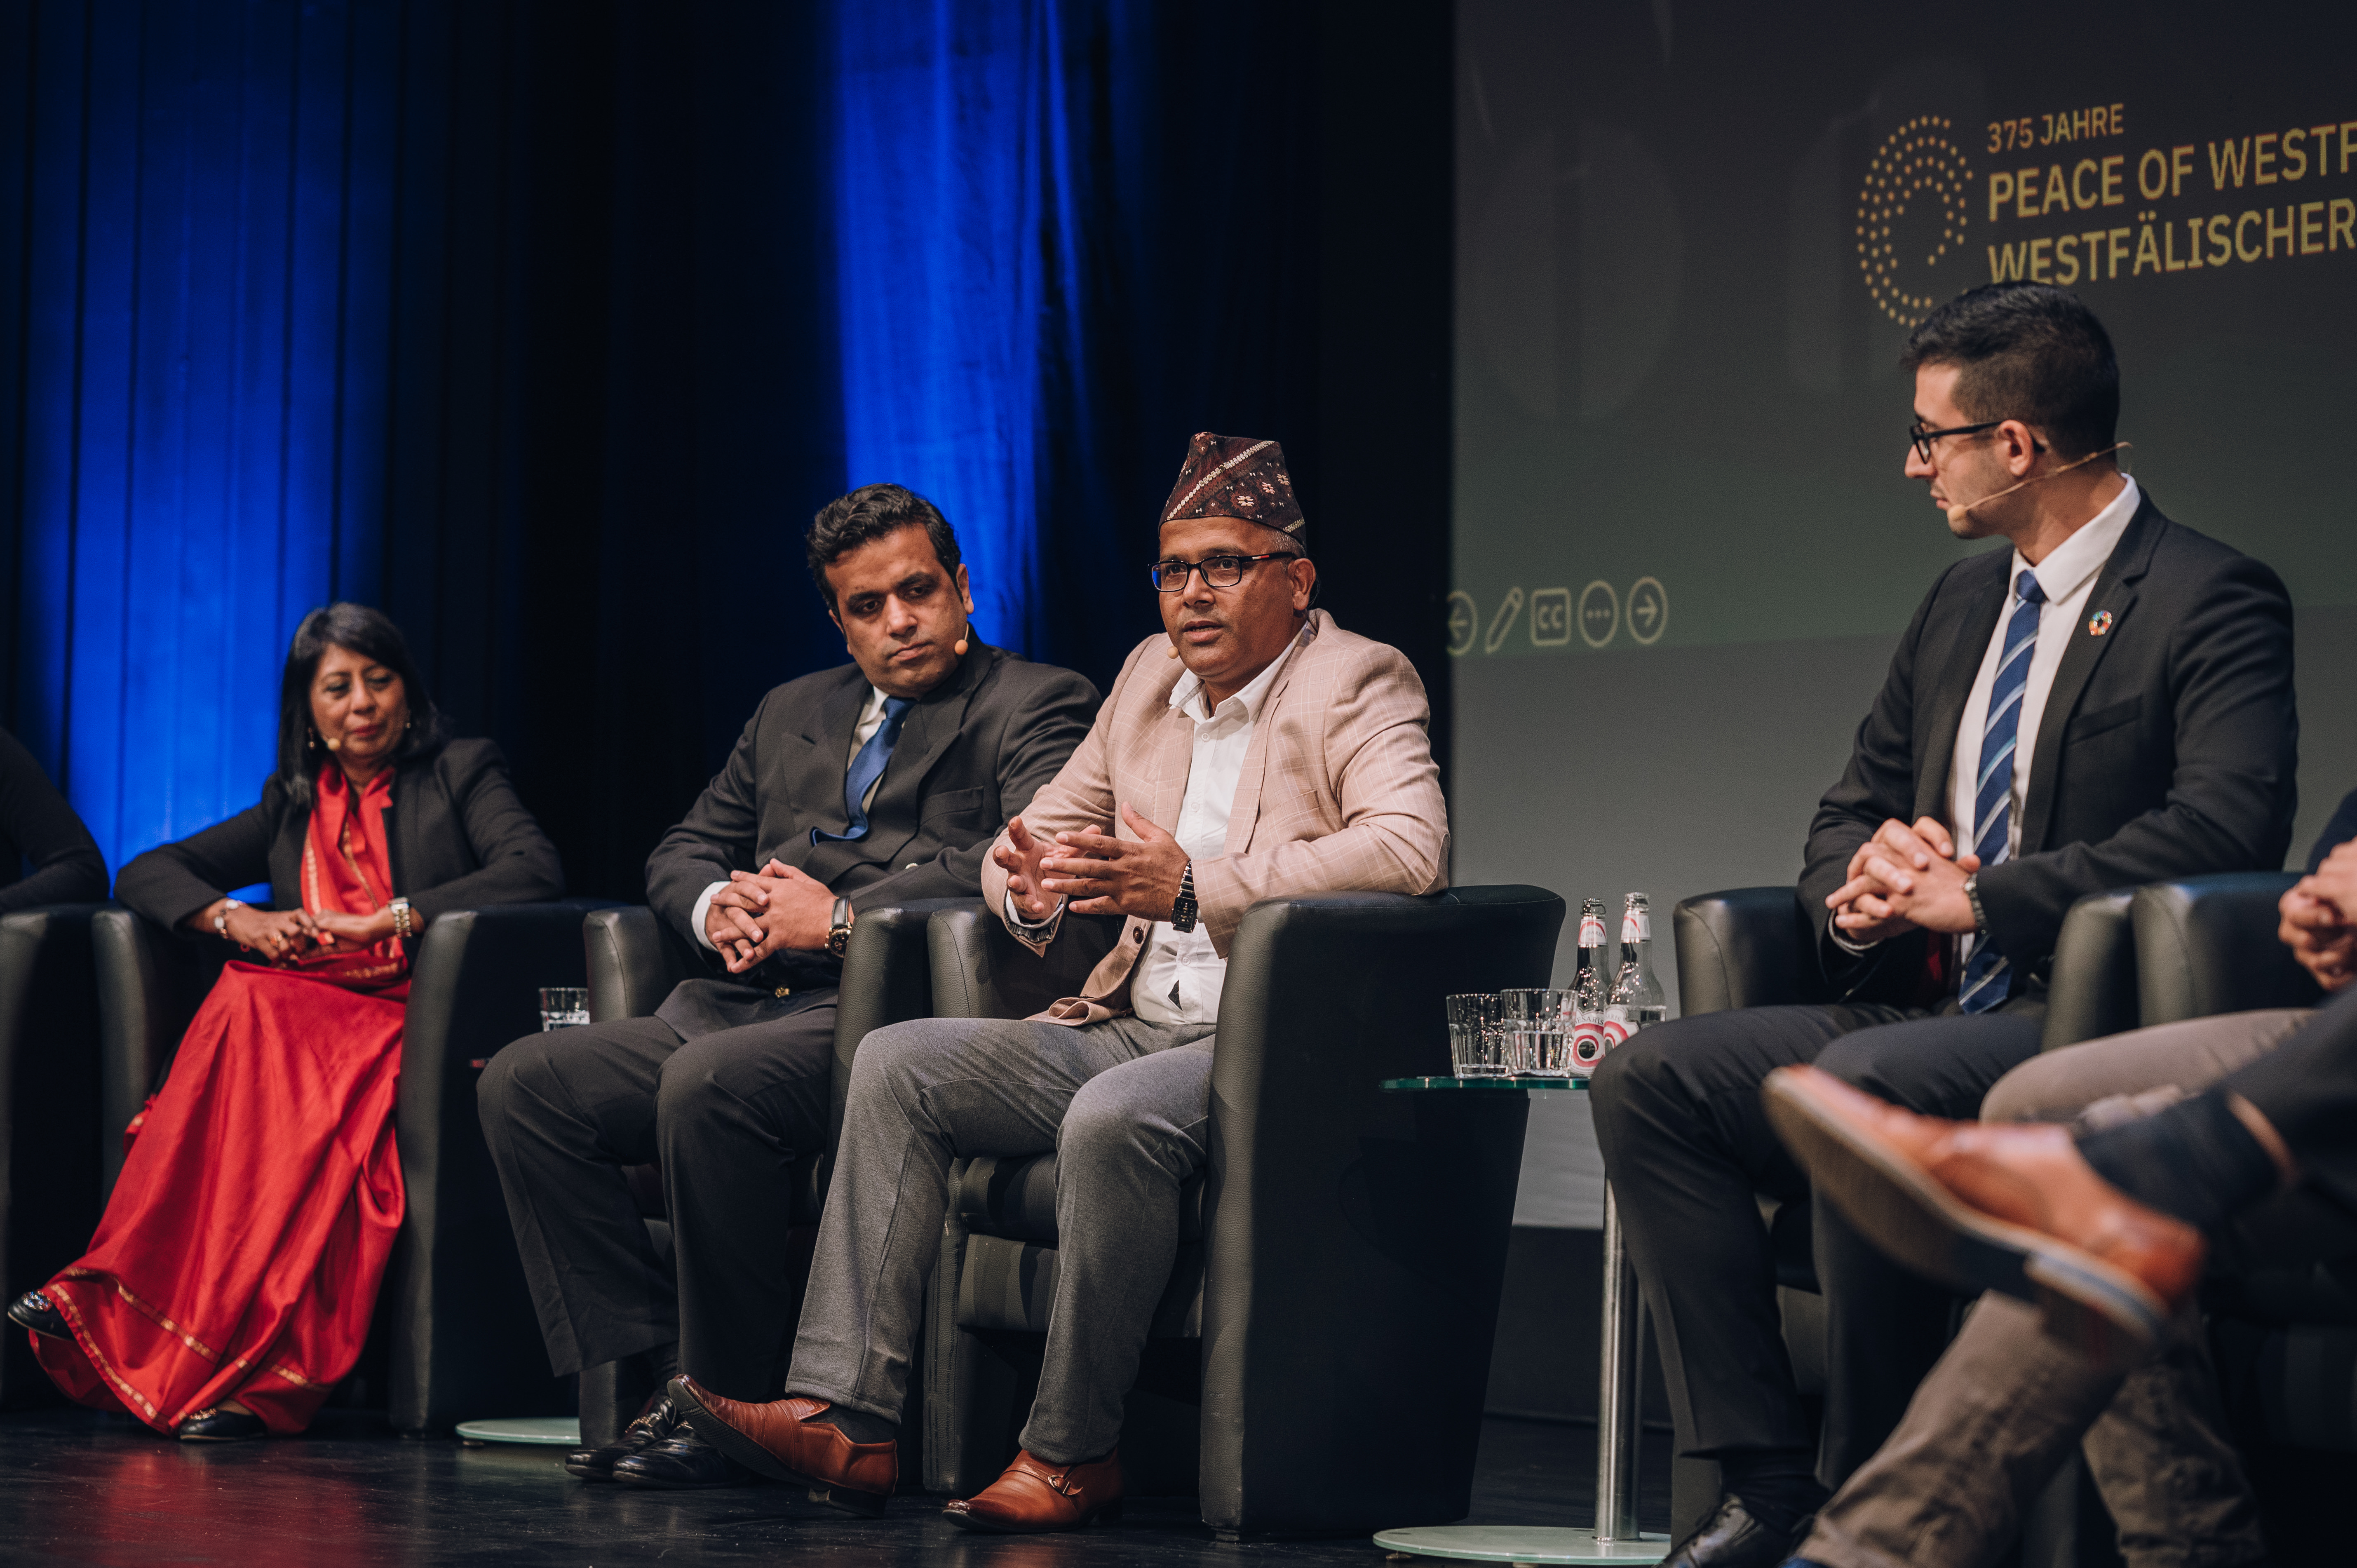
[[[1226, 957], [1244, 910], [1289, 894], [1433, 894], [1450, 884], [1450, 816], [1426, 726], [1424, 681], [1398, 648], [1355, 637], [1310, 611], [1306, 637], [1277, 672], [1252, 729], [1228, 813], [1228, 844], [1195, 861], [1195, 901], [1211, 948]], [[1051, 837], [1091, 823], [1136, 839], [1117, 806], [1176, 830], [1195, 755], [1195, 722], [1169, 705], [1186, 665], [1169, 637], [1129, 651], [1113, 696], [1063, 771], [1023, 806], [1023, 825]], [[999, 835], [999, 844], [1006, 835]], [[983, 898], [1006, 917], [1006, 872], [983, 858]], [[1150, 920], [1131, 915], [1087, 990], [1037, 1014], [1096, 1023], [1129, 1012], [1129, 971]], [[1009, 927], [1035, 953], [1047, 950]]]

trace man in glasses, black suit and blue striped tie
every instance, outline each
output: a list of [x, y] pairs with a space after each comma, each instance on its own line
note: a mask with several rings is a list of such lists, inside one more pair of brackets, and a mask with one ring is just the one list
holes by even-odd
[[1768, 1568], [1893, 1429], [1947, 1294], [1813, 1212], [1829, 1311], [1822, 1452], [1784, 1351], [1758, 1193], [1808, 1184], [1758, 1085], [1815, 1061], [1907, 1108], [1973, 1115], [2039, 1049], [2081, 894], [2277, 868], [2298, 719], [2272, 571], [2180, 528], [2112, 460], [2119, 368], [2065, 290], [1978, 288], [1907, 342], [1907, 474], [1959, 538], [2003, 538], [1916, 608], [1810, 825], [1817, 1007], [1648, 1030], [1596, 1075], [1596, 1137], [1662, 1335], [1681, 1448], [1725, 1497], [1673, 1568]]

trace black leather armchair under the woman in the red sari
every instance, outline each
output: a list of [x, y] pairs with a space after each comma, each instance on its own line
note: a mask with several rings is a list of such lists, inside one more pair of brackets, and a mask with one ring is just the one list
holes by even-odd
[[[377, 1297], [389, 1335], [387, 1412], [401, 1431], [483, 1415], [563, 1415], [474, 1106], [474, 1082], [540, 1026], [540, 986], [580, 986], [582, 915], [596, 901], [455, 910], [427, 927], [410, 974], [394, 1139], [408, 1214]], [[226, 960], [224, 943], [165, 931], [125, 908], [92, 922], [108, 1186], [120, 1129], [170, 1068]]]

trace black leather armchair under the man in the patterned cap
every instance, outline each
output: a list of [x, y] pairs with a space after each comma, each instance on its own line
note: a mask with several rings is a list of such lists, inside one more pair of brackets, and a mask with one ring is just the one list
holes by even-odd
[[[1440, 1523], [1473, 1452], [1523, 1167], [1518, 1094], [1386, 1094], [1447, 1073], [1440, 997], [1544, 986], [1563, 898], [1466, 887], [1252, 908], [1228, 953], [1211, 1160], [1129, 1396], [1136, 1493], [1197, 1490], [1221, 1540]], [[938, 1016], [1077, 988], [981, 905], [933, 917]], [[1061, 969], [1058, 969], [1061, 964]], [[1054, 1294], [1054, 1155], [964, 1160], [929, 1304], [929, 1490], [1016, 1452]], [[1414, 1394], [1414, 1441], [1400, 1398]]]

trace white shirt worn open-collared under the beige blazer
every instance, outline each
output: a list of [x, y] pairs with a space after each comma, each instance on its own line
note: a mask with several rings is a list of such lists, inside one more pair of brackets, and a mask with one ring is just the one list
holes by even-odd
[[[1261, 707], [1285, 660], [1301, 646], [1301, 637], [1285, 644], [1268, 670], [1261, 670], [1233, 698], [1204, 712], [1202, 679], [1193, 670], [1171, 686], [1171, 710], [1195, 722], [1195, 750], [1188, 757], [1186, 799], [1178, 804], [1178, 828], [1171, 832], [1188, 861], [1209, 861], [1228, 849], [1228, 818], [1235, 813], [1235, 785], [1244, 776], [1244, 752], [1252, 750], [1252, 731], [1261, 722]], [[1025, 920], [1016, 910], [1014, 894], [1006, 896], [1006, 920], [1025, 931], [1051, 929], [1063, 915], [1063, 901], [1047, 920]], [[1219, 993], [1228, 981], [1228, 960], [1211, 946], [1202, 922], [1193, 931], [1181, 931], [1167, 920], [1157, 920], [1146, 934], [1146, 948], [1129, 971], [1129, 1007], [1148, 1023], [1219, 1023]]]

